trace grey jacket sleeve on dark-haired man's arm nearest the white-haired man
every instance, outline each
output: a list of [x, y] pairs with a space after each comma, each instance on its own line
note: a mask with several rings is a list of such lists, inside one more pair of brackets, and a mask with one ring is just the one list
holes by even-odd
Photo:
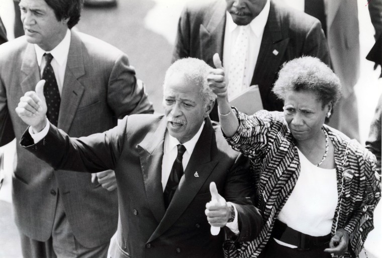
[[122, 119], [132, 114], [152, 114], [152, 103], [145, 93], [144, 84], [135, 77], [135, 69], [129, 64], [126, 54], [114, 63], [108, 81], [108, 104]]

